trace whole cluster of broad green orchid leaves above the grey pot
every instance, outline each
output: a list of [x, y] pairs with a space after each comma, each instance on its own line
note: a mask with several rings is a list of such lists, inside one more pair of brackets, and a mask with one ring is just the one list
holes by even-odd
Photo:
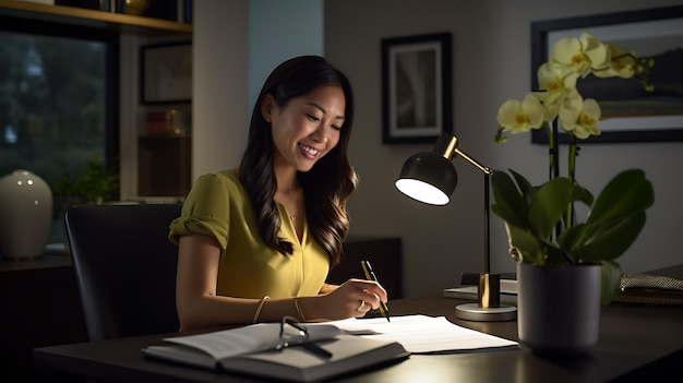
[[[504, 220], [520, 261], [531, 264], [615, 260], [637, 239], [645, 226], [645, 211], [655, 201], [652, 185], [642, 170], [616, 175], [597, 200], [564, 177], [534, 187], [514, 170], [510, 173], [493, 173], [496, 203], [491, 208]], [[577, 202], [591, 208], [587, 222], [556, 234], [559, 223]]]

